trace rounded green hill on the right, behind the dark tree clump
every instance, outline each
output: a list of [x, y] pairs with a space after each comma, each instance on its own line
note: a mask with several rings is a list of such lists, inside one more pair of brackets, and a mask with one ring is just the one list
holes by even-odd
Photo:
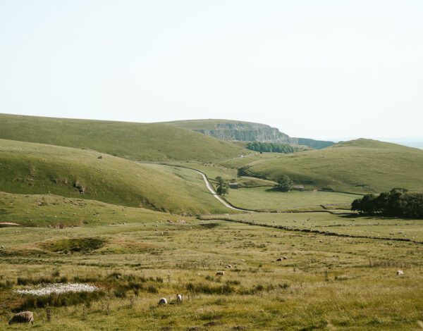
[[393, 187], [423, 191], [423, 151], [357, 139], [318, 151], [255, 161], [246, 175], [277, 180], [283, 174], [309, 189], [382, 192]]

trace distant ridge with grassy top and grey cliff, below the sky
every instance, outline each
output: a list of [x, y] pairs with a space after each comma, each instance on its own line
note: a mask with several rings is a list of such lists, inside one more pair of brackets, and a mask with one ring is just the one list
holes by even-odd
[[237, 120], [177, 120], [164, 123], [184, 127], [226, 141], [276, 142], [290, 145], [304, 145], [313, 149], [323, 149], [335, 144], [328, 141], [289, 137], [285, 133], [280, 132], [276, 127]]

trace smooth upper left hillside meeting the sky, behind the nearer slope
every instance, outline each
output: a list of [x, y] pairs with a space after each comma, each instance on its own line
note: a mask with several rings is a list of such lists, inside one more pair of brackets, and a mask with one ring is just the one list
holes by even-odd
[[212, 160], [249, 153], [242, 146], [173, 125], [6, 114], [0, 114], [0, 139], [94, 149], [150, 161]]

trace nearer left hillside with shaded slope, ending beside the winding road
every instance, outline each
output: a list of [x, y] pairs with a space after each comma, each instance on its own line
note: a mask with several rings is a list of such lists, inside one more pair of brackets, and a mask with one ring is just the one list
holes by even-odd
[[[0, 187], [178, 213], [228, 212], [192, 170], [68, 147], [0, 139]], [[83, 192], [82, 194], [80, 192]]]

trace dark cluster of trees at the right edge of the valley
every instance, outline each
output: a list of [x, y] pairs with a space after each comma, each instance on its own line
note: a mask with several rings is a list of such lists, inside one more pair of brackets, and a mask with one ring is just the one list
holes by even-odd
[[395, 188], [376, 196], [366, 194], [355, 199], [351, 210], [362, 213], [379, 213], [386, 216], [423, 218], [423, 194], [407, 193], [407, 189]]

